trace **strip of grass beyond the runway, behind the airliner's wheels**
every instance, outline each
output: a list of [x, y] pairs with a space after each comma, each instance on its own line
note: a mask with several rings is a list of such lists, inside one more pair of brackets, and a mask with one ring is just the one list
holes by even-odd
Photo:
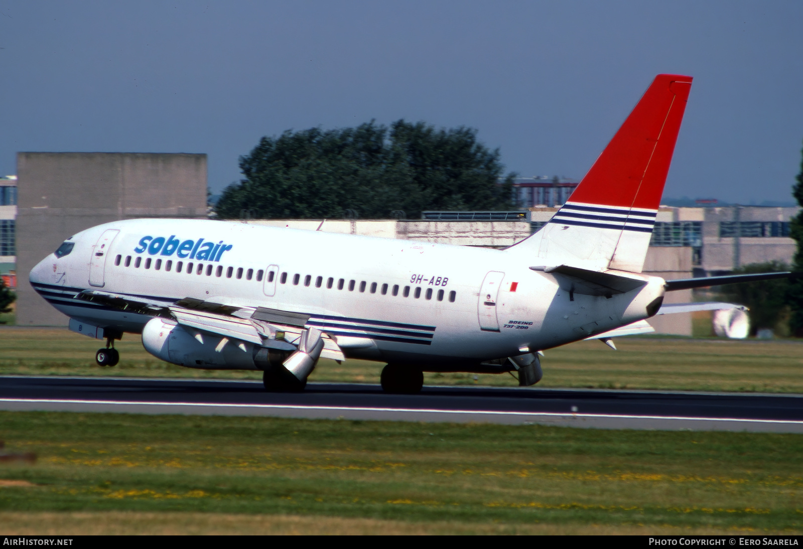
[[[803, 343], [794, 340], [620, 338], [618, 351], [597, 341], [550, 349], [537, 387], [803, 392]], [[167, 364], [137, 336], [117, 342], [120, 364], [101, 368], [102, 342], [67, 329], [0, 327], [0, 375], [162, 376], [261, 379], [260, 372], [205, 371]], [[378, 383], [382, 363], [320, 360], [312, 381]], [[426, 374], [427, 384], [514, 386], [512, 376]]]

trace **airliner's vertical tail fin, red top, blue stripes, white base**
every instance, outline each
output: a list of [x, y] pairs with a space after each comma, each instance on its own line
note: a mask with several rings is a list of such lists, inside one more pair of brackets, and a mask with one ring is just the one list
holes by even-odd
[[514, 249], [544, 265], [641, 272], [690, 89], [691, 76], [656, 76], [569, 201]]

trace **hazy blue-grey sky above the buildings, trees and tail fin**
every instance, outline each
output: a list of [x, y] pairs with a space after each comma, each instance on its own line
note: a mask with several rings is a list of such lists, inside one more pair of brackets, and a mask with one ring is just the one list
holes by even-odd
[[0, 175], [17, 151], [208, 153], [375, 118], [467, 125], [580, 178], [659, 72], [692, 75], [666, 197], [787, 201], [803, 2], [5, 2]]

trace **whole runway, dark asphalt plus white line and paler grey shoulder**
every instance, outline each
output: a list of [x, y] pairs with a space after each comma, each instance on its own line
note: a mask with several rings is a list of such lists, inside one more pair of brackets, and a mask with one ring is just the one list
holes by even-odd
[[326, 383], [271, 393], [257, 381], [0, 376], [0, 409], [803, 433], [803, 396], [751, 393], [426, 386], [388, 395]]

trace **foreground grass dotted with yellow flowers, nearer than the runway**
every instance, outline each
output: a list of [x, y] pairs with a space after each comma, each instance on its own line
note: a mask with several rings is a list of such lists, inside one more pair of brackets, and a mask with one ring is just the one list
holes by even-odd
[[798, 435], [0, 412], [0, 437], [39, 455], [0, 466], [5, 534], [803, 531]]

